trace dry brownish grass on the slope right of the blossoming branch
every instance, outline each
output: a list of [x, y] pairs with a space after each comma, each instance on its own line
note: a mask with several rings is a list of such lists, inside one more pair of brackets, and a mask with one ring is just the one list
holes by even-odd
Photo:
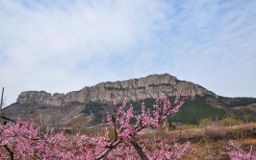
[[[236, 126], [181, 126], [172, 130], [172, 137], [179, 137], [178, 143], [191, 141], [192, 146], [183, 159], [228, 159], [226, 147], [229, 140], [235, 140], [249, 151], [252, 146], [256, 149], [256, 123], [241, 124]], [[156, 131], [156, 137], [165, 134]], [[154, 133], [145, 132], [138, 138], [152, 139]]]

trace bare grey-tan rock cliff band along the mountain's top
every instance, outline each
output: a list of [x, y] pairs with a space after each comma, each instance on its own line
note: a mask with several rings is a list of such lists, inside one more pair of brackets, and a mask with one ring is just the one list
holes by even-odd
[[67, 94], [55, 93], [51, 95], [44, 91], [27, 91], [22, 92], [17, 103], [39, 103], [44, 105], [64, 106], [70, 103], [87, 103], [87, 102], [111, 102], [111, 94], [113, 91], [117, 97], [137, 101], [142, 95], [158, 96], [166, 94], [168, 96], [190, 95], [204, 96], [216, 95], [205, 88], [188, 81], [177, 80], [168, 74], [151, 75], [146, 78], [123, 80], [115, 82], [102, 82], [94, 86], [85, 87], [80, 91], [73, 91]]

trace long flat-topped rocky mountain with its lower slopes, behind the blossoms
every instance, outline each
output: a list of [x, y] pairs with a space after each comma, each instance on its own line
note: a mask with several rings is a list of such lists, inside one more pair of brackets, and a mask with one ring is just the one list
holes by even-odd
[[[74, 120], [85, 117], [86, 125], [101, 124], [106, 112], [110, 109], [111, 92], [119, 98], [126, 96], [130, 103], [140, 108], [141, 96], [146, 96], [150, 105], [149, 95], [166, 94], [169, 97], [189, 95], [190, 104], [185, 104], [181, 113], [172, 121], [183, 121], [181, 118], [197, 117], [184, 123], [196, 124], [207, 116], [224, 117], [228, 112], [240, 112], [249, 117], [256, 117], [256, 99], [254, 98], [224, 98], [194, 84], [190, 81], [178, 80], [168, 74], [150, 75], [141, 79], [107, 81], [94, 86], [86, 86], [79, 91], [67, 94], [50, 94], [45, 91], [26, 91], [20, 93], [16, 103], [3, 109], [7, 117], [15, 119], [34, 118], [43, 121], [48, 126], [70, 125]], [[151, 102], [151, 103], [150, 103]], [[186, 109], [185, 109], [186, 108]], [[198, 113], [197, 113], [198, 112]], [[202, 113], [201, 113], [202, 112]], [[181, 114], [179, 113], [179, 114]], [[192, 114], [193, 113], [193, 114]], [[178, 115], [179, 115], [178, 114]], [[177, 117], [180, 117], [177, 119]]]

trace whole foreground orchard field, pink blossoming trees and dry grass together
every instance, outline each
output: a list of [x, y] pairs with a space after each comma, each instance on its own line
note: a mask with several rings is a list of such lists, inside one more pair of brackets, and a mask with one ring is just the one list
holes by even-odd
[[173, 103], [165, 95], [155, 99], [152, 107], [142, 102], [141, 111], [127, 107], [126, 100], [121, 105], [113, 101], [107, 123], [90, 127], [77, 126], [84, 119], [65, 128], [36, 126], [32, 120], [10, 122], [0, 126], [0, 159], [256, 158], [253, 121], [232, 114], [221, 119], [206, 118], [211, 111], [205, 106], [200, 114], [203, 117], [194, 119], [193, 125], [173, 123], [169, 116], [179, 113], [187, 97], [177, 97]]

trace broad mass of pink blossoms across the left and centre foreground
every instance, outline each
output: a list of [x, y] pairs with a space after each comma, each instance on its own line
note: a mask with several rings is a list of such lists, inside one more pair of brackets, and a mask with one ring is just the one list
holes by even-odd
[[[69, 135], [63, 131], [55, 133], [46, 128], [41, 131], [33, 121], [10, 122], [0, 125], [0, 159], [177, 159], [190, 147], [190, 143], [178, 145], [176, 139], [159, 139], [155, 148], [150, 139], [138, 139], [137, 135], [147, 128], [166, 124], [167, 116], [176, 113], [186, 98], [177, 97], [170, 102], [165, 95], [152, 97], [156, 103], [153, 110], [141, 103], [141, 114], [135, 115], [133, 106], [127, 109], [127, 99], [121, 106], [112, 102], [113, 113], [108, 115], [105, 134]], [[131, 123], [134, 118], [136, 123]], [[115, 138], [109, 139], [109, 128], [115, 131]], [[168, 134], [171, 134], [167, 131]]]

